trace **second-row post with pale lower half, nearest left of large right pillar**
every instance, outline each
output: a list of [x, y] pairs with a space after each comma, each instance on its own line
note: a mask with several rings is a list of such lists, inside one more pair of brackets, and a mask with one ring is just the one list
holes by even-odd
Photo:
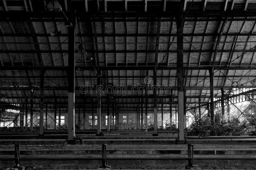
[[155, 70], [153, 71], [153, 82], [154, 82], [154, 89], [153, 89], [153, 95], [154, 95], [154, 134], [153, 136], [158, 136], [157, 134], [157, 98], [156, 98], [156, 66]]

